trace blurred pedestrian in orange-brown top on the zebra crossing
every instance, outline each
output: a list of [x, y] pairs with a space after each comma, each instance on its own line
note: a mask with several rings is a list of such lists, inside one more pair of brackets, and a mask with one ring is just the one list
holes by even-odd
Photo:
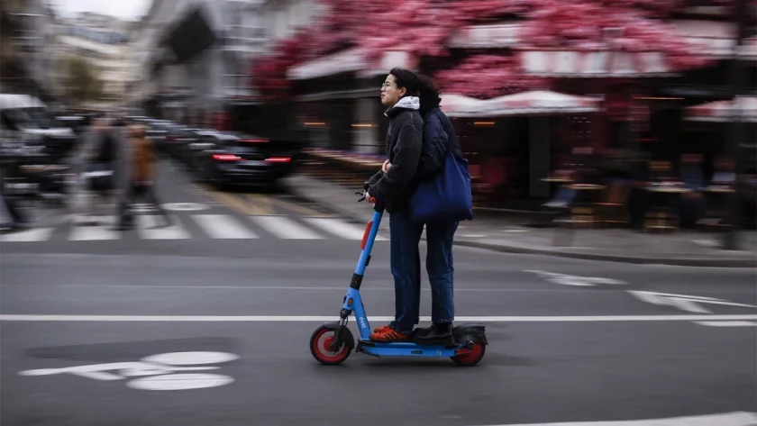
[[147, 131], [141, 125], [130, 127], [127, 140], [130, 141], [131, 149], [131, 161], [128, 166], [131, 173], [119, 205], [119, 223], [116, 229], [125, 231], [132, 227], [131, 207], [137, 199], [144, 200], [158, 210], [163, 218], [162, 225], [169, 226], [169, 214], [162, 208], [155, 195], [155, 145], [147, 138]]

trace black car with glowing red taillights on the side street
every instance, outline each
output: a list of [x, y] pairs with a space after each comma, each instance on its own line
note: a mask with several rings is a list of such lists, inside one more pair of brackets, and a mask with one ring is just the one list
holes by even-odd
[[214, 186], [272, 185], [294, 170], [296, 152], [244, 133], [197, 131], [192, 144], [198, 179]]

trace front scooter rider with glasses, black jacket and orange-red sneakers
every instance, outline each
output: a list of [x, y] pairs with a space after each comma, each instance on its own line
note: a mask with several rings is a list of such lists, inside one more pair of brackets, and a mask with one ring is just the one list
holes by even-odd
[[[395, 321], [370, 335], [376, 341], [409, 340], [419, 322], [421, 263], [418, 244], [423, 223], [410, 220], [409, 200], [415, 193], [415, 175], [423, 145], [423, 119], [415, 91], [415, 73], [394, 68], [381, 86], [381, 104], [388, 107], [387, 161], [366, 183], [371, 203], [389, 213], [390, 263], [395, 280]], [[388, 167], [388, 165], [391, 167]]]

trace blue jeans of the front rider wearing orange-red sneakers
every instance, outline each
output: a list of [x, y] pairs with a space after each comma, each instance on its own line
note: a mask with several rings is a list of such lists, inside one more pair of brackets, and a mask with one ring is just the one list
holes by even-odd
[[409, 213], [389, 215], [389, 258], [395, 280], [395, 321], [392, 328], [410, 333], [420, 322], [421, 254], [418, 244], [424, 231], [423, 223], [410, 220]]

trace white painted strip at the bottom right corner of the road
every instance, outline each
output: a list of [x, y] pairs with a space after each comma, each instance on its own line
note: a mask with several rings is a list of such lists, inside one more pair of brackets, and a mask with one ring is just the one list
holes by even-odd
[[755, 412], [725, 412], [667, 419], [631, 421], [570, 421], [561, 423], [500, 424], [496, 426], [753, 426], [757, 423]]

